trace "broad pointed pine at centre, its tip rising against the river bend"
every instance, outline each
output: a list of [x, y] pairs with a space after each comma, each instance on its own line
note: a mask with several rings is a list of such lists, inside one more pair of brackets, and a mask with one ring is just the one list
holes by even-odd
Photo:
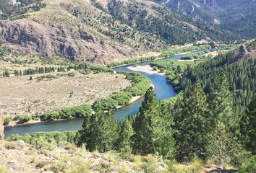
[[174, 139], [168, 118], [171, 118], [169, 112], [161, 112], [153, 87], [150, 87], [133, 123], [133, 151], [136, 154], [158, 153], [168, 158], [174, 155]]

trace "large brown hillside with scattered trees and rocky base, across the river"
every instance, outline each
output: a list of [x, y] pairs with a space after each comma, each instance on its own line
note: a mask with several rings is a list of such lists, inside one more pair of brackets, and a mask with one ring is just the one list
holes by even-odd
[[43, 57], [109, 63], [200, 39], [234, 40], [153, 1], [1, 0], [0, 10], [1, 42]]

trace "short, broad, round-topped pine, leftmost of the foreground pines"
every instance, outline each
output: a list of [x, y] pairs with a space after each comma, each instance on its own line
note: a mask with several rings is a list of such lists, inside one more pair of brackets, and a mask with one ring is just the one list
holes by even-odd
[[114, 149], [117, 138], [117, 126], [113, 112], [98, 110], [95, 114], [86, 116], [79, 131], [79, 145], [85, 143], [89, 151], [99, 150], [101, 152]]

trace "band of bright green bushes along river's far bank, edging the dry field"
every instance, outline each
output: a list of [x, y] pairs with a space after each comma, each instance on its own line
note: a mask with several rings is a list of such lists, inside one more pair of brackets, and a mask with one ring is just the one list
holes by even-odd
[[[92, 106], [84, 104], [74, 107], [65, 107], [64, 109], [44, 112], [42, 115], [22, 115], [14, 117], [18, 123], [26, 123], [29, 120], [53, 121], [65, 120], [78, 117], [86, 117], [94, 110], [117, 110], [118, 106], [128, 105], [132, 97], [143, 95], [150, 86], [150, 79], [142, 74], [126, 74], [126, 79], [132, 82], [132, 85], [124, 89], [124, 91], [112, 94], [110, 97], [96, 99]], [[12, 117], [6, 117], [4, 125], [11, 123]]]

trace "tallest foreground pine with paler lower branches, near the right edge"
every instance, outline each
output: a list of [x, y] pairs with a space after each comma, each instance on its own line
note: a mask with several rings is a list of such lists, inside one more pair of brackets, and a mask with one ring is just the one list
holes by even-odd
[[213, 130], [208, 135], [208, 156], [218, 164], [230, 164], [243, 150], [237, 138], [239, 116], [225, 74], [218, 77], [209, 101]]

